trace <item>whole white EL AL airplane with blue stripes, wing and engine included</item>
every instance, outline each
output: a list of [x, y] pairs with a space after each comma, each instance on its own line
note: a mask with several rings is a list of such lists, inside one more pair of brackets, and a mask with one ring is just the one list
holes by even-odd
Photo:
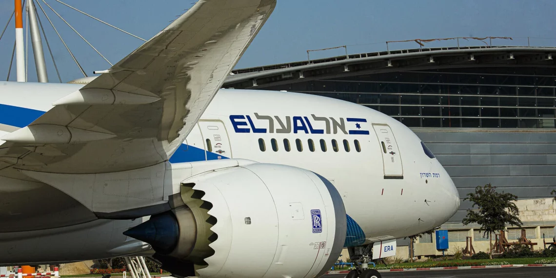
[[[275, 0], [197, 2], [96, 78], [0, 82], [0, 265], [150, 256], [174, 276], [318, 277], [434, 229], [459, 195], [350, 102], [220, 89]], [[245, 267], [246, 259], [249, 267]]]

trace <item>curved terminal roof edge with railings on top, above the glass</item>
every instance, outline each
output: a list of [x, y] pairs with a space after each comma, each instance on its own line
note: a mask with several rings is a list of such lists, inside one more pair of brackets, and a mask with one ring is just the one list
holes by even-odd
[[264, 88], [381, 72], [469, 67], [555, 67], [556, 47], [443, 47], [351, 54], [236, 69], [225, 88]]

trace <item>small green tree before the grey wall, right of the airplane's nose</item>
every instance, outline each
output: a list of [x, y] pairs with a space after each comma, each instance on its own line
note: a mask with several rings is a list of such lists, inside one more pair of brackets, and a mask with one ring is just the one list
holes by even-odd
[[515, 205], [518, 196], [504, 191], [497, 192], [495, 188], [490, 183], [477, 186], [475, 193], [469, 193], [468, 197], [463, 199], [473, 203], [471, 209], [467, 210], [463, 225], [476, 223], [481, 226], [479, 231], [483, 232], [483, 237], [487, 236], [490, 239], [490, 259], [492, 259], [492, 233], [504, 230], [507, 224], [518, 227], [523, 225], [518, 217], [518, 206]]

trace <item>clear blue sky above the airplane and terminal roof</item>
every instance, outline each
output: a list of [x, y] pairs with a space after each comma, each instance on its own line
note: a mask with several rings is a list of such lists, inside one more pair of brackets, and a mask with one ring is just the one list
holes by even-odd
[[[42, 1], [42, 0], [36, 0]], [[55, 0], [45, 0], [112, 63], [118, 62], [142, 41], [98, 23]], [[62, 0], [64, 1], [64, 0]], [[64, 2], [108, 23], [148, 39], [190, 8], [194, 0], [65, 0]], [[42, 2], [41, 2], [42, 3]], [[162, 4], [161, 4], [162, 3]], [[88, 75], [110, 67], [77, 34], [42, 3], [48, 16]], [[13, 11], [13, 0], [0, 0], [0, 31]], [[493, 44], [556, 46], [556, 1], [553, 0], [279, 0], [236, 68], [307, 59], [307, 49], [347, 45], [350, 53], [383, 51], [385, 41], [445, 37], [513, 37]], [[62, 81], [82, 77], [46, 17], [39, 9]], [[14, 40], [13, 20], [0, 40], [0, 80], [6, 80]], [[481, 42], [461, 41], [462, 45]], [[455, 46], [455, 41], [428, 46]], [[393, 43], [391, 49], [416, 48], [418, 44]], [[46, 49], [46, 44], [45, 44]], [[343, 49], [312, 52], [311, 58], [341, 55]], [[57, 82], [47, 57], [48, 75]], [[29, 43], [29, 81], [36, 81]], [[10, 80], [15, 80], [14, 67]]]

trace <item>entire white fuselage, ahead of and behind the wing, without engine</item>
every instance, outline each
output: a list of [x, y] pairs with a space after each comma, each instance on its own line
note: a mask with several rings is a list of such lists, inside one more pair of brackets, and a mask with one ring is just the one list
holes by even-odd
[[[79, 88], [0, 82], [0, 109], [48, 111], [52, 102]], [[0, 111], [0, 136], [17, 130], [16, 123]], [[0, 148], [3, 143], [0, 141]], [[370, 108], [332, 98], [220, 90], [170, 162], [225, 158], [301, 167], [330, 180], [344, 201], [349, 216], [347, 236], [354, 239], [352, 246], [433, 229], [459, 207], [459, 195], [450, 177], [436, 158], [426, 155], [421, 140], [408, 127]], [[2, 173], [0, 194], [6, 188], [17, 190], [11, 183], [31, 183], [5, 178]], [[83, 224], [76, 220], [75, 225], [56, 229], [0, 233], [0, 250], [16, 245], [36, 246], [34, 239], [41, 236], [52, 241], [75, 237], [80, 242], [92, 242], [76, 252], [67, 251], [71, 246], [62, 246], [58, 251], [38, 247], [33, 254], [25, 254], [25, 249], [14, 247], [10, 255], [0, 253], [0, 264], [12, 262], [14, 256], [31, 257], [26, 262], [69, 261], [145, 250], [135, 240], [120, 236], [141, 219], [96, 221], [102, 229], [97, 227], [95, 232], [89, 232], [95, 221]], [[113, 224], [108, 224], [111, 221]], [[109, 242], [100, 244], [103, 239], [97, 237], [107, 235], [112, 235], [112, 239], [108, 236], [105, 240]]]

